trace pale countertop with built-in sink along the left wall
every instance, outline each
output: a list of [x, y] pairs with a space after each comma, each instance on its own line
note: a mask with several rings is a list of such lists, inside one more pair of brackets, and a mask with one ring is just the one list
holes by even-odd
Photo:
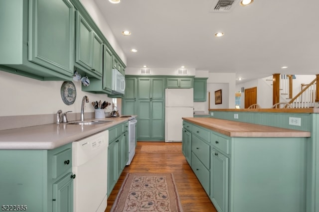
[[105, 120], [114, 121], [92, 125], [52, 123], [0, 130], [0, 149], [54, 149], [100, 131], [107, 130], [109, 127], [129, 120], [129, 118], [116, 117], [105, 118]]

